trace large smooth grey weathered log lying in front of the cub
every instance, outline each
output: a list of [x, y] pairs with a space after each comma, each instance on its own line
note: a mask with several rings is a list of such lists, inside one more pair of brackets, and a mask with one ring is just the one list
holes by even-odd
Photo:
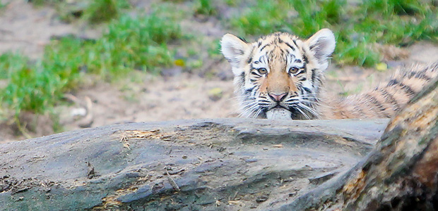
[[298, 209], [345, 177], [387, 121], [181, 120], [5, 143], [1, 210]]

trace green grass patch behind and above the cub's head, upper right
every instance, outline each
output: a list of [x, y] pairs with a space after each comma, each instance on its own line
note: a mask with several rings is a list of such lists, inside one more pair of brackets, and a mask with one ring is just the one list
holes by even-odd
[[379, 63], [381, 56], [373, 48], [377, 43], [406, 46], [421, 39], [438, 41], [438, 7], [426, 0], [369, 0], [358, 6], [345, 0], [256, 1], [230, 23], [246, 36], [286, 31], [309, 37], [330, 28], [337, 41], [333, 59], [340, 65]]

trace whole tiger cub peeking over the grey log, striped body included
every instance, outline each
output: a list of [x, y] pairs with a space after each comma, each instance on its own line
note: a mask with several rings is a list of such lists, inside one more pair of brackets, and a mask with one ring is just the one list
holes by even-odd
[[391, 117], [438, 75], [438, 63], [398, 70], [387, 84], [336, 98], [324, 92], [324, 71], [336, 45], [333, 32], [307, 40], [276, 32], [248, 43], [232, 34], [220, 41], [235, 75], [243, 117], [283, 120]]

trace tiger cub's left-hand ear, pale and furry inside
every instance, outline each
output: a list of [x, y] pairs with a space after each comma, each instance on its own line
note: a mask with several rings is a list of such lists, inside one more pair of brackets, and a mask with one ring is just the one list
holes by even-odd
[[242, 60], [245, 51], [249, 44], [232, 34], [225, 34], [220, 40], [220, 46], [223, 56], [230, 62], [232, 66], [237, 66]]

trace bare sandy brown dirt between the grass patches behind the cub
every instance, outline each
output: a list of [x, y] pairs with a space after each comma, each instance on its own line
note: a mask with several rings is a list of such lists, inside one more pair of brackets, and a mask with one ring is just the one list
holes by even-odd
[[[218, 20], [212, 18], [208, 21], [193, 18], [189, 23], [182, 23], [182, 27], [192, 27], [211, 40], [227, 32]], [[100, 31], [86, 25], [61, 23], [53, 8], [35, 8], [25, 1], [11, 1], [0, 12], [0, 53], [18, 51], [30, 58], [38, 58], [50, 37], [66, 34], [97, 37]], [[409, 53], [407, 59], [390, 61], [390, 70], [384, 72], [331, 65], [326, 87], [332, 93], [354, 94], [384, 81], [400, 65], [438, 60], [438, 46], [428, 42], [414, 44], [406, 52]], [[207, 58], [204, 64], [207, 65], [204, 65], [203, 72], [212, 72], [213, 77], [173, 68], [163, 71], [162, 76], [134, 72], [126, 79], [112, 84], [86, 83], [71, 94], [71, 98], [76, 98], [76, 103], [61, 103], [61, 106], [55, 108], [60, 113], [59, 122], [64, 131], [69, 131], [80, 129], [84, 124], [87, 127], [98, 127], [125, 122], [236, 117], [237, 103], [232, 99], [230, 66], [223, 59]], [[87, 98], [90, 99], [88, 113], [84, 109], [87, 107]], [[29, 133], [30, 136], [53, 133], [52, 122], [48, 117], [39, 117], [34, 122], [37, 126]], [[25, 139], [26, 136], [14, 135], [17, 132], [5, 125], [0, 124], [0, 143]]]

